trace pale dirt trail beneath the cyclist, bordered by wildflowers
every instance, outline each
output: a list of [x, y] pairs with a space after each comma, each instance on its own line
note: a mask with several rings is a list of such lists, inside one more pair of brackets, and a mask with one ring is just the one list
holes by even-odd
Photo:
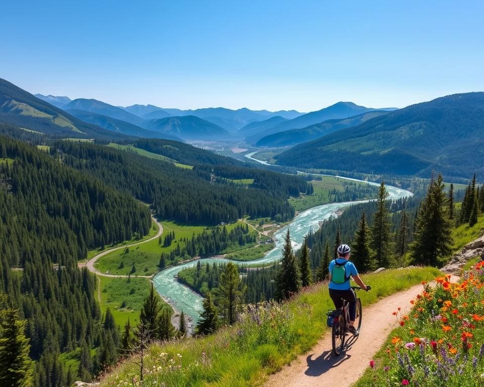
[[[455, 281], [456, 277], [451, 279]], [[422, 285], [396, 293], [364, 307], [360, 334], [349, 335], [345, 350], [334, 356], [331, 331], [307, 354], [299, 356], [280, 372], [269, 377], [266, 387], [324, 387], [349, 386], [365, 372], [392, 329], [398, 325], [393, 311], [401, 307], [403, 314], [410, 309], [410, 300], [422, 291]]]

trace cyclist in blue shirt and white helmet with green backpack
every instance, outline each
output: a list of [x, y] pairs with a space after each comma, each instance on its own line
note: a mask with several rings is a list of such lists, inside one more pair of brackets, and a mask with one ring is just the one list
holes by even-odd
[[[352, 262], [349, 262], [349, 252], [351, 248], [347, 244], [338, 247], [338, 257], [329, 264], [329, 296], [334, 302], [336, 309], [343, 307], [343, 300], [349, 303], [349, 327], [348, 331], [354, 336], [358, 331], [354, 328], [354, 319], [356, 317], [356, 295], [349, 283], [350, 277], [353, 277], [361, 288], [367, 290], [367, 285], [359, 278], [358, 271]], [[336, 268], [336, 271], [334, 271]], [[333, 273], [335, 273], [333, 277]], [[343, 274], [344, 273], [344, 274]], [[335, 282], [336, 281], [336, 282]]]

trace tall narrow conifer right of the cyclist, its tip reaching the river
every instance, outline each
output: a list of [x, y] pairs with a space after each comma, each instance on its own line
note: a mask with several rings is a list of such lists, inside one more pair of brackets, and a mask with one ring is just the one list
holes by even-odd
[[391, 223], [386, 198], [385, 183], [382, 181], [377, 199], [377, 211], [373, 216], [370, 247], [379, 267], [389, 268], [393, 264]]

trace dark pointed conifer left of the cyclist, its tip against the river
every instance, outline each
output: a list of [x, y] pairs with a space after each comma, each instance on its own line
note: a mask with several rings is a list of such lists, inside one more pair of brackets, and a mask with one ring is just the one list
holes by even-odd
[[301, 289], [299, 269], [292, 251], [289, 229], [287, 229], [282, 250], [281, 267], [276, 278], [276, 298], [285, 300]]

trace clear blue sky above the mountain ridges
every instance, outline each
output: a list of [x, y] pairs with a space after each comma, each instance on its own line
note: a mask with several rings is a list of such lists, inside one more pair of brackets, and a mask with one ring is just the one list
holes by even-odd
[[403, 107], [484, 90], [479, 1], [6, 1], [0, 78], [113, 105]]

